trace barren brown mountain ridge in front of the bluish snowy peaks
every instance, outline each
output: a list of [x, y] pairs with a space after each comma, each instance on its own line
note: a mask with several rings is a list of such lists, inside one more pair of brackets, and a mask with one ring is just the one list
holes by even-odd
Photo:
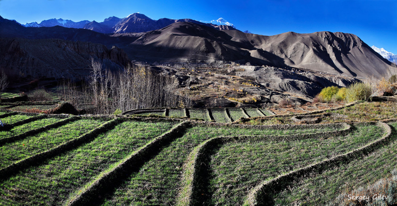
[[[57, 38], [100, 43], [108, 48], [117, 46], [123, 49], [130, 59], [138, 61], [250, 62], [257, 65], [312, 69], [356, 77], [380, 77], [391, 64], [356, 35], [340, 32], [311, 34], [287, 32], [263, 36], [247, 34], [239, 30], [217, 30], [192, 22], [176, 22], [149, 32], [106, 35], [87, 29], [60, 26], [25, 28], [14, 21], [0, 17], [0, 37]], [[53, 40], [31, 41], [29, 47], [33, 47], [33, 44], [50, 44], [45, 43], [46, 41]], [[7, 44], [1, 45], [3, 47], [1, 51], [6, 51], [7, 48], [4, 47], [7, 47]], [[100, 48], [101, 51], [105, 51], [104, 47]], [[29, 55], [34, 56], [33, 50], [26, 51], [32, 52]], [[76, 52], [79, 53], [79, 51]], [[103, 57], [107, 59], [106, 55]], [[6, 62], [10, 60], [10, 58], [2, 58], [1, 65], [15, 64]], [[74, 64], [74, 61], [70, 62]], [[67, 64], [68, 61], [65, 61], [65, 65], [60, 65], [58, 68], [72, 68]], [[123, 63], [116, 62], [115, 64], [122, 65]]]

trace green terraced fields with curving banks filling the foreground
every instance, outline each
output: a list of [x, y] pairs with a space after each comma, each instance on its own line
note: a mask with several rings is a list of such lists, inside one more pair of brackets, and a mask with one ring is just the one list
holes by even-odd
[[[215, 122], [245, 112], [260, 115], [189, 109]], [[0, 131], [0, 205], [324, 205], [397, 167], [394, 122], [0, 114], [15, 120]]]

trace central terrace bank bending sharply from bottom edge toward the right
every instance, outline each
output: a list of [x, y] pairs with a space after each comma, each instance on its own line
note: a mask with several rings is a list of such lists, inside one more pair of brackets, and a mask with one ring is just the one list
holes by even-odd
[[[183, 187], [180, 191], [177, 200], [177, 206], [199, 206], [202, 205], [202, 199], [207, 198], [202, 194], [205, 191], [205, 184], [201, 183], [202, 174], [207, 173], [207, 165], [209, 164], [210, 150], [214, 147], [219, 146], [219, 144], [224, 144], [233, 140], [277, 140], [277, 141], [289, 141], [289, 140], [302, 140], [308, 138], [328, 138], [336, 136], [344, 136], [353, 130], [350, 124], [337, 123], [332, 124], [335, 126], [342, 126], [342, 130], [321, 132], [321, 133], [309, 133], [309, 134], [298, 134], [298, 135], [287, 135], [287, 136], [242, 136], [242, 137], [213, 137], [210, 138], [198, 146], [196, 146], [193, 151], [189, 154], [188, 161], [184, 165], [185, 172], [183, 174]], [[324, 126], [324, 125], [323, 125]], [[290, 125], [290, 128], [295, 128], [294, 125]], [[205, 166], [202, 166], [205, 165]], [[205, 175], [204, 175], [205, 176]]]

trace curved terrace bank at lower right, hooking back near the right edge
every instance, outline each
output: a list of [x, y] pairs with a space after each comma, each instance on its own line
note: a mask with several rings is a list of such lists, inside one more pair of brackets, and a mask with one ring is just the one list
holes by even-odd
[[353, 151], [338, 155], [331, 159], [327, 159], [325, 161], [321, 161], [295, 171], [291, 171], [272, 180], [262, 182], [260, 185], [256, 186], [250, 191], [246, 201], [244, 202], [244, 206], [267, 205], [272, 202], [271, 194], [276, 191], [280, 191], [283, 188], [286, 188], [287, 185], [289, 185], [297, 178], [300, 178], [310, 172], [322, 172], [323, 170], [332, 166], [338, 166], [342, 163], [348, 163], [351, 161], [351, 159], [369, 154], [383, 144], [388, 143], [392, 135], [393, 129], [384, 122], [378, 122], [377, 125], [384, 129], [386, 135]]

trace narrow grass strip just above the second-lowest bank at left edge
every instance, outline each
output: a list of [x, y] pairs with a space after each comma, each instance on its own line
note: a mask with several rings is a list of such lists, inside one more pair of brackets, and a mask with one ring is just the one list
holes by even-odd
[[28, 124], [24, 124], [24, 125], [19, 125], [16, 127], [13, 127], [9, 130], [1, 130], [0, 131], [0, 138], [6, 138], [6, 137], [12, 137], [15, 135], [19, 135], [22, 133], [25, 133], [29, 130], [33, 130], [36, 128], [40, 128], [40, 127], [44, 127], [46, 125], [50, 125], [53, 123], [56, 123], [58, 121], [62, 120], [61, 118], [44, 118], [44, 119], [40, 119], [40, 120], [36, 120], [33, 122], [30, 122]]

